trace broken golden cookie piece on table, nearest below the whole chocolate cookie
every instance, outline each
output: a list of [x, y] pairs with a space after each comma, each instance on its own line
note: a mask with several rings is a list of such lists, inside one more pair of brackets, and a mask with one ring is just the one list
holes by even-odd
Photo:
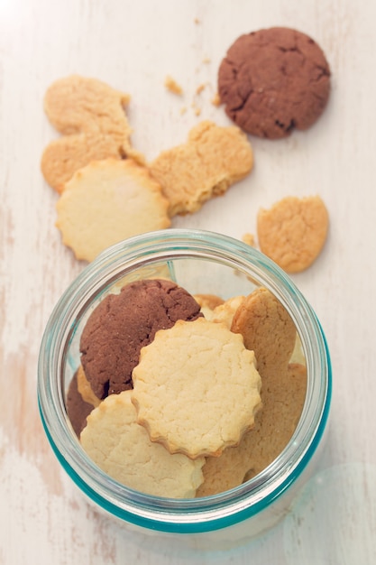
[[238, 127], [204, 121], [190, 131], [186, 144], [160, 153], [150, 171], [170, 201], [170, 216], [175, 216], [196, 212], [243, 179], [252, 165], [251, 144]]

